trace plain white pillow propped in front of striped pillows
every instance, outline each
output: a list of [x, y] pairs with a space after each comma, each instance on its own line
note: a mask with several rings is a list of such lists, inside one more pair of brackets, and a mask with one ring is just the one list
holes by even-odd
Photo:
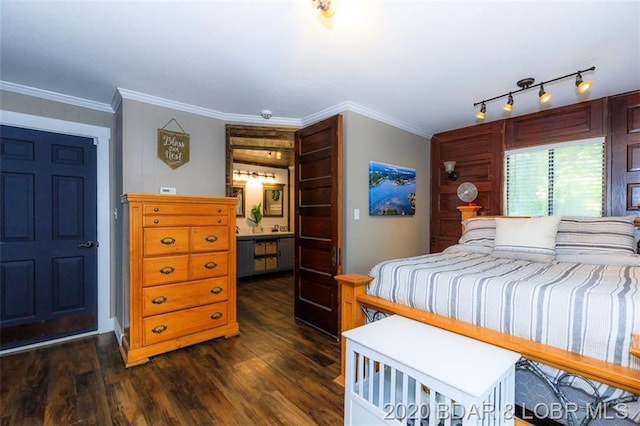
[[560, 216], [496, 218], [494, 257], [553, 262]]

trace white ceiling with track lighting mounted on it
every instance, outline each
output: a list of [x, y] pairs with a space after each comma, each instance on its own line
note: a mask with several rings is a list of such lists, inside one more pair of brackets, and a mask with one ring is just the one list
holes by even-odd
[[[637, 0], [336, 1], [329, 20], [309, 0], [0, 0], [0, 88], [107, 110], [119, 88], [261, 125], [351, 110], [426, 137], [525, 77], [596, 66], [586, 96], [545, 85], [545, 108], [640, 89]], [[514, 100], [512, 116], [541, 109], [537, 89]]]

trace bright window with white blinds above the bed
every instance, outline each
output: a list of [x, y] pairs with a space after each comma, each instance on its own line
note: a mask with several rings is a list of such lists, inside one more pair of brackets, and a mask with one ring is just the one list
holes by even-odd
[[604, 138], [505, 152], [505, 215], [602, 216]]

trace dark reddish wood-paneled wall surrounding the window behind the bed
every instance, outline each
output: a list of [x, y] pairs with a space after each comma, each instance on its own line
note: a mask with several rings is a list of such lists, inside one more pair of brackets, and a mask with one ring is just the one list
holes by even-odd
[[[609, 114], [609, 111], [611, 114]], [[478, 187], [481, 215], [502, 214], [503, 152], [550, 142], [606, 136], [607, 214], [639, 214], [640, 91], [581, 102], [434, 135], [431, 139], [431, 252], [456, 244], [462, 182]], [[443, 161], [456, 161], [450, 181]]]

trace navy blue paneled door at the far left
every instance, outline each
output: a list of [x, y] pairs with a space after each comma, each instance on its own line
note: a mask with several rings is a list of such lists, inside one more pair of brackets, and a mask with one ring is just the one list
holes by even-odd
[[0, 126], [0, 349], [97, 329], [93, 139]]

